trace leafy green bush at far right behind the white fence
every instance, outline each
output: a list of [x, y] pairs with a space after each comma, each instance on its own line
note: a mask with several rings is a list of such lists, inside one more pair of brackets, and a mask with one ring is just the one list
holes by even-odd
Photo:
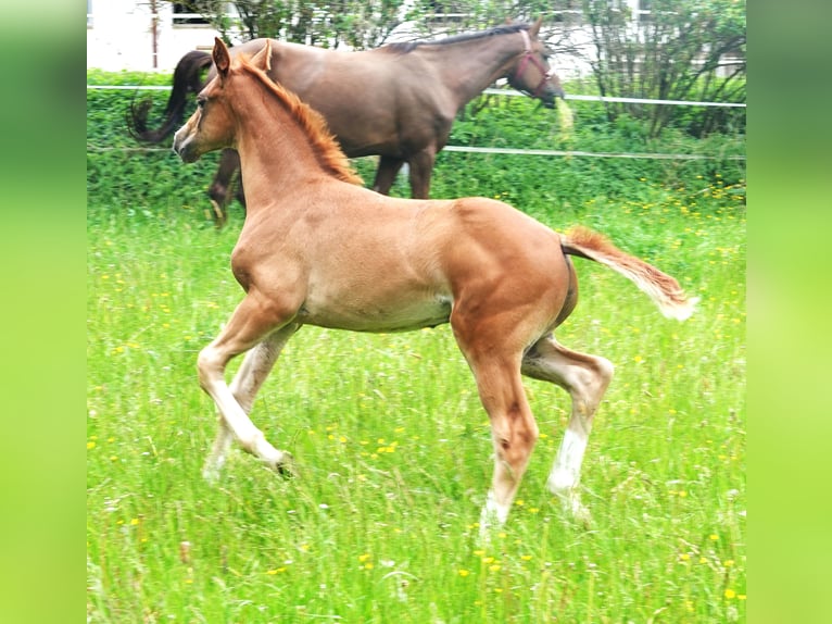
[[[745, 0], [640, 0], [635, 18], [620, 0], [583, 0], [594, 46], [592, 64], [602, 96], [717, 102], [745, 101]], [[726, 66], [726, 61], [730, 65]], [[607, 102], [610, 121], [623, 112], [657, 136], [677, 107]], [[706, 108], [689, 116], [704, 136], [744, 111]], [[722, 129], [722, 128], [720, 128]]]

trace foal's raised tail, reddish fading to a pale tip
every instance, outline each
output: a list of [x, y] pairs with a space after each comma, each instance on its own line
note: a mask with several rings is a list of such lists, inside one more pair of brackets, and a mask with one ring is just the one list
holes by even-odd
[[600, 262], [633, 282], [656, 302], [661, 313], [669, 319], [684, 321], [698, 301], [688, 298], [679, 283], [629, 253], [625, 253], [606, 237], [585, 227], [575, 227], [560, 235], [564, 253]]

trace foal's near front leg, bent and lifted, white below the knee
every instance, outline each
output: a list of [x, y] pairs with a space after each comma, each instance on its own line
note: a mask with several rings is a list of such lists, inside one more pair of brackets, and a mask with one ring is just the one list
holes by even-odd
[[[287, 317], [291, 317], [290, 313], [280, 310], [276, 302], [264, 298], [255, 290], [250, 290], [219, 336], [200, 351], [197, 361], [200, 386], [214, 399], [224, 426], [231, 432], [245, 451], [278, 471], [282, 469], [287, 454], [273, 447], [263, 433], [254, 426], [243, 405], [240, 404], [231, 388], [225, 383], [224, 373], [231, 358], [255, 347], [272, 332], [277, 330], [278, 333], [275, 338], [276, 344], [286, 342], [297, 329], [297, 327], [286, 325], [282, 320]], [[259, 375], [250, 376], [255, 364], [259, 365], [260, 373], [265, 377], [264, 369], [270, 369], [270, 366], [266, 366], [268, 359], [272, 358], [270, 363], [274, 364], [277, 353], [279, 350], [276, 353], [269, 353], [266, 350], [248, 359], [249, 371], [243, 371], [243, 376], [237, 384], [243, 398], [247, 398], [252, 389], [262, 384], [262, 379], [256, 378]], [[250, 408], [250, 405], [248, 407]], [[225, 444], [225, 438], [217, 436], [215, 451], [216, 445], [219, 445], [222, 452]]]

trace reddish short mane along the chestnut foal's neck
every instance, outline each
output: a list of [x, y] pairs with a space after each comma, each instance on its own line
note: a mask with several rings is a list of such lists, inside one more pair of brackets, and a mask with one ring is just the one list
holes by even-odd
[[240, 67], [260, 78], [263, 85], [274, 93], [289, 114], [294, 117], [308, 137], [318, 162], [328, 173], [342, 182], [358, 186], [364, 184], [364, 180], [350, 164], [350, 159], [346, 158], [335, 136], [329, 132], [324, 115], [301, 101], [295, 93], [275, 83], [265, 72], [252, 65], [248, 57], [241, 54], [239, 63]]

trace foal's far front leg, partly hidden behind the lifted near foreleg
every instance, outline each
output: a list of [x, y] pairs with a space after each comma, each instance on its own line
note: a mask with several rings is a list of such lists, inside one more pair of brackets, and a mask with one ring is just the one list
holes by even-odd
[[[245, 353], [245, 359], [231, 382], [230, 390], [247, 414], [251, 413], [254, 397], [272, 372], [286, 342], [299, 327], [297, 324], [287, 325]], [[202, 470], [202, 475], [209, 481], [215, 481], [219, 476], [219, 471], [225, 464], [225, 458], [234, 438], [234, 433], [226, 425], [223, 414], [217, 414], [217, 421], [216, 439]]]

